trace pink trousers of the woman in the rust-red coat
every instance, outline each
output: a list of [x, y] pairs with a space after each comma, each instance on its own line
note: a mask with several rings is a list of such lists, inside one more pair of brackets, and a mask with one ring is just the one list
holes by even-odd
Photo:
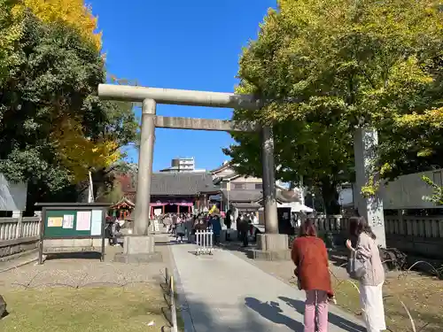
[[328, 295], [323, 290], [307, 290], [305, 303], [305, 332], [315, 332], [315, 307], [317, 331], [328, 332]]

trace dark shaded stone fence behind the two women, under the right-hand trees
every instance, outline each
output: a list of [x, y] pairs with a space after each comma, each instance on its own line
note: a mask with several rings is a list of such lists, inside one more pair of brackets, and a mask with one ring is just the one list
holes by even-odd
[[[349, 219], [341, 215], [315, 218], [320, 233], [330, 232], [342, 244], [349, 229]], [[386, 246], [410, 255], [443, 259], [443, 215], [417, 217], [385, 215]]]

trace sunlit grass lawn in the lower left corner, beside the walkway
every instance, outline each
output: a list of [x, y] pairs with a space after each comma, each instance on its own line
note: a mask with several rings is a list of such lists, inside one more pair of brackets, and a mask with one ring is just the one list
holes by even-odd
[[0, 320], [0, 331], [138, 332], [169, 326], [162, 313], [167, 303], [157, 285], [10, 290], [2, 295], [10, 314]]

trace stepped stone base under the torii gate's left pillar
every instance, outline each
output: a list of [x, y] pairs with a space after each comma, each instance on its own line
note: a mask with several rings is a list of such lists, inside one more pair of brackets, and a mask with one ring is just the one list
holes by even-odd
[[123, 252], [114, 256], [119, 263], [161, 262], [161, 253], [155, 251], [155, 237], [150, 235], [127, 235], [123, 237]]

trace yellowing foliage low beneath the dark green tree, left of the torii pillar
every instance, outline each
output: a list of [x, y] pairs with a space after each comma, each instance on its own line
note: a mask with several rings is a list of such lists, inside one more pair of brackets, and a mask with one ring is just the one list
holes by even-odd
[[72, 174], [73, 183], [84, 181], [90, 168], [96, 170], [111, 166], [120, 160], [119, 145], [113, 140], [94, 142], [85, 137], [77, 120], [65, 117], [51, 133], [58, 158]]

